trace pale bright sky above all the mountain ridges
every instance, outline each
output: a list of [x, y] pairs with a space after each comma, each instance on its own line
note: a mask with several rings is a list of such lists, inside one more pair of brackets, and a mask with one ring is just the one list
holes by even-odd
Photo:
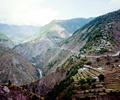
[[120, 0], [0, 0], [0, 23], [45, 25], [52, 20], [95, 17], [120, 9]]

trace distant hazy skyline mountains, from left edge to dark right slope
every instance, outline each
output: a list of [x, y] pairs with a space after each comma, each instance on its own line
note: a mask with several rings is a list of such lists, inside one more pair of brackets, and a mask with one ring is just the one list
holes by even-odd
[[[79, 27], [82, 27], [93, 18], [76, 18], [71, 20], [54, 20], [43, 26], [10, 25], [0, 23], [0, 33], [6, 34], [15, 44], [27, 42], [41, 36], [55, 37], [55, 39], [66, 38]], [[49, 35], [51, 34], [51, 35]]]

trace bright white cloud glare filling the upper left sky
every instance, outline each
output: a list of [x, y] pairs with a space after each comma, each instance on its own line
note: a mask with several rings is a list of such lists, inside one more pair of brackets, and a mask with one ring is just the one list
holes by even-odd
[[47, 7], [45, 1], [0, 0], [0, 20], [12, 24], [46, 24], [55, 19], [59, 13]]

